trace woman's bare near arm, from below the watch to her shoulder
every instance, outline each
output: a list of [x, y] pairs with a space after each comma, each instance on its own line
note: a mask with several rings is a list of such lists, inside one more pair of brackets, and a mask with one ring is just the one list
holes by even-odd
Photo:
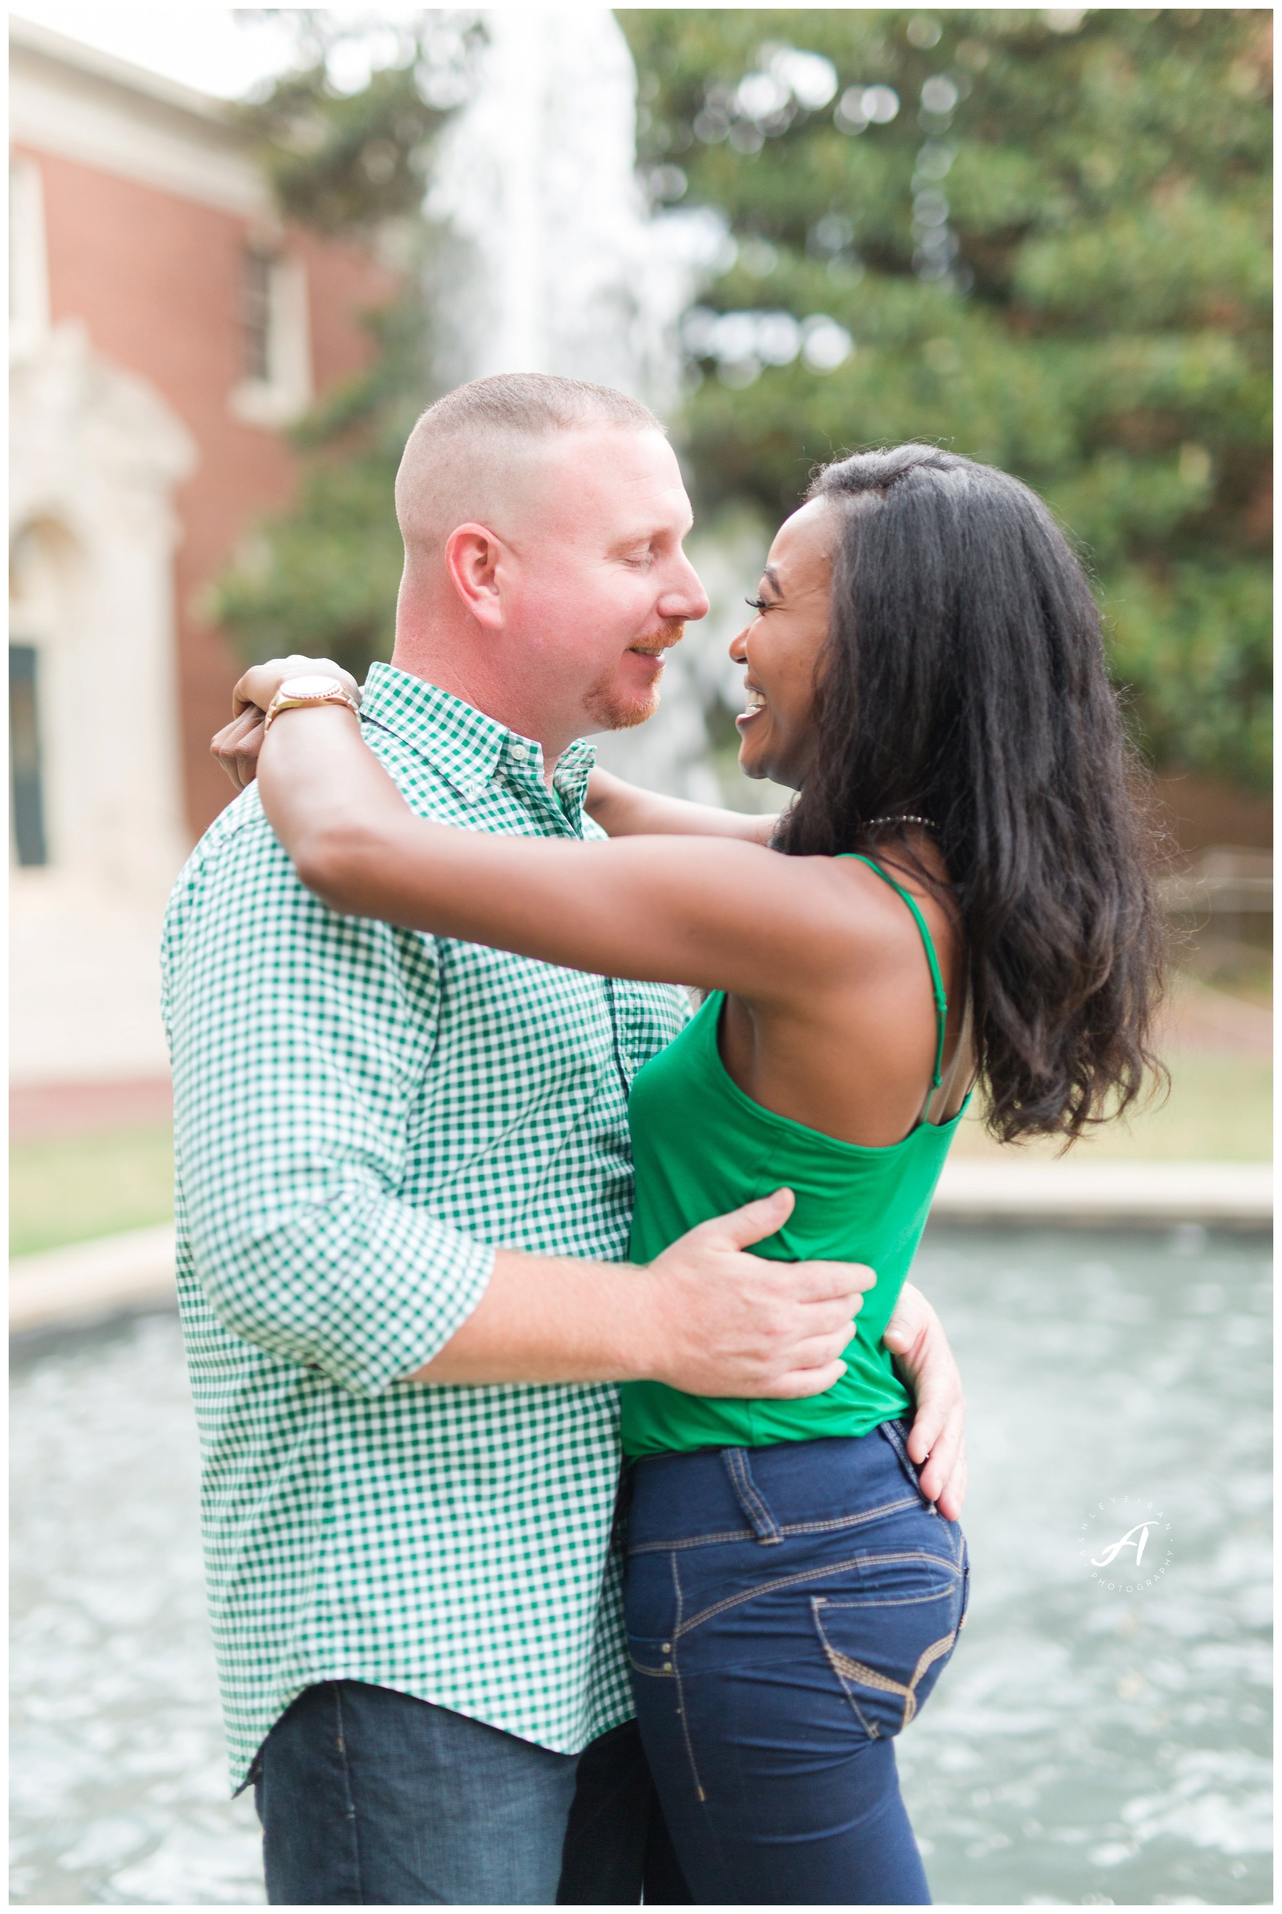
[[258, 789], [302, 882], [348, 917], [762, 1001], [859, 968], [848, 867], [727, 838], [582, 844], [429, 823], [337, 704], [279, 714]]

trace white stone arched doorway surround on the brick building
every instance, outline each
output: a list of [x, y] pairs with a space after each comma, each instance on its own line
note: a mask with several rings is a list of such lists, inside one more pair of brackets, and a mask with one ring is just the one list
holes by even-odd
[[172, 494], [195, 444], [75, 322], [21, 354], [10, 394], [10, 641], [34, 662], [46, 850], [11, 871], [11, 1074], [157, 1076], [159, 923], [188, 848]]

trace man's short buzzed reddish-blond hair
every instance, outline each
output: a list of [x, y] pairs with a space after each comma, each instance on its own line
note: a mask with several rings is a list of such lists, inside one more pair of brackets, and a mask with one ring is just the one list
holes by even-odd
[[501, 513], [540, 440], [593, 427], [664, 433], [649, 406], [626, 392], [543, 371], [496, 373], [446, 392], [409, 433], [396, 473], [408, 559], [431, 559], [455, 524], [488, 524]]

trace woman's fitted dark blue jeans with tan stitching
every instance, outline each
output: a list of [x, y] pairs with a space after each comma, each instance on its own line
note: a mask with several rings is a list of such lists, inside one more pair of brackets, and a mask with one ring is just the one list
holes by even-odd
[[930, 1901], [895, 1774], [966, 1614], [907, 1424], [630, 1472], [641, 1738], [698, 1903]]

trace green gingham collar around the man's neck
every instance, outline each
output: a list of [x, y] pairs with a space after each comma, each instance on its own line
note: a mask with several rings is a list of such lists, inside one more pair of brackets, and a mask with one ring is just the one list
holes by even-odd
[[[427, 758], [461, 798], [478, 798], [499, 769], [509, 783], [547, 796], [542, 745], [423, 678], [392, 664], [371, 664], [360, 714]], [[574, 813], [582, 808], [595, 762], [595, 746], [582, 737], [557, 760], [553, 787]]]

